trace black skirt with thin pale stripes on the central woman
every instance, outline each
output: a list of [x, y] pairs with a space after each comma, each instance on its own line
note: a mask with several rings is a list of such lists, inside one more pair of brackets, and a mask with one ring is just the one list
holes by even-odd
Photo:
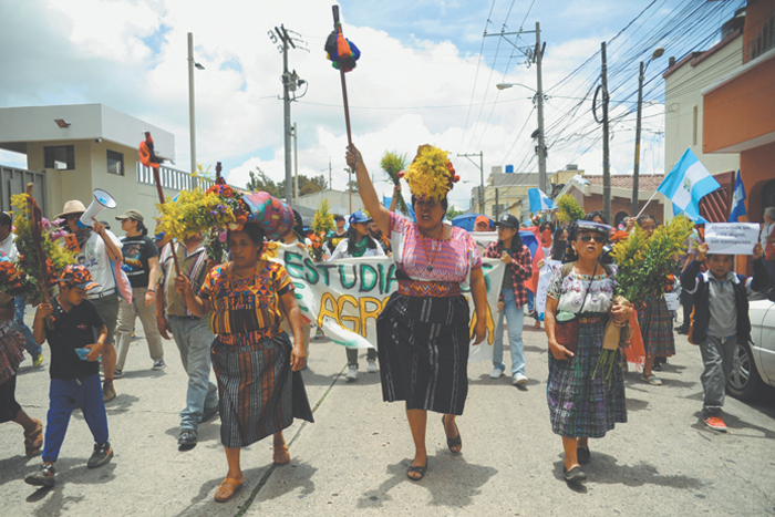
[[468, 302], [393, 293], [376, 320], [382, 397], [462, 415], [468, 394]]

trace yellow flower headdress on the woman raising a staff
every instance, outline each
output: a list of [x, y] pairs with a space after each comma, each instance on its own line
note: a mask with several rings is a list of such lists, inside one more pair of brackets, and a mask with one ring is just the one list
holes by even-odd
[[461, 179], [447, 159], [447, 152], [427, 144], [417, 148], [417, 155], [403, 177], [414, 197], [436, 201], [444, 199]]

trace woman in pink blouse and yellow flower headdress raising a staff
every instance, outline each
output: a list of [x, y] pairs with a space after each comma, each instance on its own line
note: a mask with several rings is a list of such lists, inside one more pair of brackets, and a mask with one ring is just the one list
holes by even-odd
[[461, 283], [471, 285], [476, 308], [475, 344], [486, 334], [487, 301], [482, 257], [462, 228], [442, 223], [446, 194], [459, 179], [447, 153], [421, 146], [404, 178], [412, 190], [417, 221], [390, 213], [380, 203], [361, 153], [350, 146], [348, 165], [355, 169], [365, 208], [391, 239], [399, 290], [376, 320], [382, 396], [405, 401], [415, 454], [406, 475], [420, 480], [427, 468], [427, 412], [442, 413], [447, 446], [461, 452], [455, 416], [463, 414], [468, 391], [468, 302]]

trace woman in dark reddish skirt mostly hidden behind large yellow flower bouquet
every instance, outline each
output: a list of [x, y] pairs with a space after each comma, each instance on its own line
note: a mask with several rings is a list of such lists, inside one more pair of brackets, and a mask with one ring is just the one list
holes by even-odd
[[[638, 218], [638, 226], [651, 237], [659, 223], [653, 216], [644, 214]], [[638, 309], [638, 325], [645, 349], [645, 364], [643, 364], [641, 379], [652, 386], [661, 386], [662, 381], [652, 373], [652, 369], [662, 369], [657, 363], [658, 358], [663, 359], [661, 362], [666, 362], [668, 358], [675, 355], [673, 317], [668, 309], [664, 294], [643, 299], [643, 307]]]

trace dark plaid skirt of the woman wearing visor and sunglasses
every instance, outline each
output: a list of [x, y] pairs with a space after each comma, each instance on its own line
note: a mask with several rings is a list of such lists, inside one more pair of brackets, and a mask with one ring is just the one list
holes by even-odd
[[[627, 422], [621, 369], [613, 368], [610, 387], [602, 372], [598, 371], [592, 379], [602, 351], [604, 330], [604, 319], [579, 324], [576, 355], [559, 361], [549, 352], [546, 397], [555, 434], [570, 438], [601, 438], [616, 423]], [[618, 364], [618, 359], [614, 364]]]

